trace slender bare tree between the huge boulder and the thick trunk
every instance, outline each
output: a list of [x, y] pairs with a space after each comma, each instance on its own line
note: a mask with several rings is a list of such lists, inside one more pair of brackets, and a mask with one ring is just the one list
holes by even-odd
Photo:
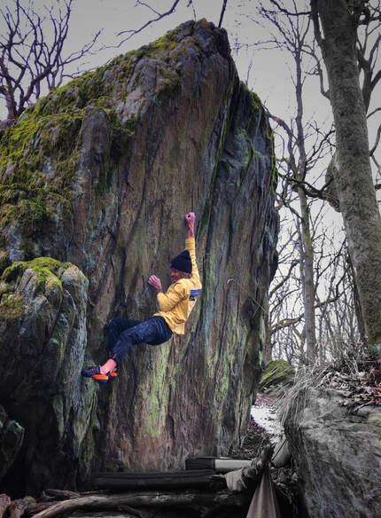
[[[310, 20], [299, 15], [296, 2], [292, 2], [293, 10], [284, 9], [282, 0], [275, 2], [270, 0], [268, 6], [260, 2], [258, 11], [260, 16], [269, 22], [270, 36], [267, 46], [274, 46], [287, 51], [292, 57], [293, 72], [292, 82], [295, 88], [296, 113], [292, 122], [287, 124], [281, 119], [270, 115], [278, 124], [280, 130], [285, 133], [286, 153], [283, 155], [280, 167], [284, 169], [284, 179], [298, 192], [299, 215], [297, 228], [299, 231], [299, 271], [302, 286], [304, 306], [304, 335], [307, 345], [307, 360], [315, 362], [317, 357], [315, 337], [315, 280], [314, 280], [314, 247], [310, 229], [310, 209], [305, 191], [305, 181], [308, 172], [314, 169], [322, 157], [324, 145], [312, 147], [311, 153], [307, 153], [306, 134], [310, 130], [305, 126], [303, 86], [307, 77], [304, 71], [303, 58], [305, 56], [306, 42], [310, 37]], [[316, 137], [316, 135], [315, 135]], [[318, 139], [321, 135], [317, 134]]]

